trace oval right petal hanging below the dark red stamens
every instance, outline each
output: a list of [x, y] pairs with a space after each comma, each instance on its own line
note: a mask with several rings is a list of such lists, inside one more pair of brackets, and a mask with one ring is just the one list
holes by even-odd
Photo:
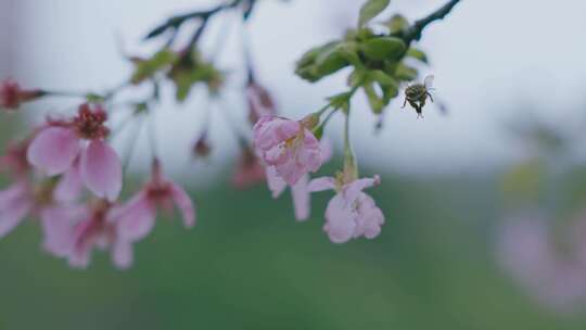
[[115, 201], [122, 190], [122, 164], [116, 152], [100, 140], [81, 152], [81, 179], [100, 198]]

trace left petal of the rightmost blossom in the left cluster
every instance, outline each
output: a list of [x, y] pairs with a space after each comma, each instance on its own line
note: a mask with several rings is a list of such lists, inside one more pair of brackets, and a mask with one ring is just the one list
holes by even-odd
[[138, 241], [146, 237], [154, 227], [155, 208], [146, 194], [140, 192], [123, 208], [113, 211], [114, 221], [117, 221], [117, 233], [126, 241]]

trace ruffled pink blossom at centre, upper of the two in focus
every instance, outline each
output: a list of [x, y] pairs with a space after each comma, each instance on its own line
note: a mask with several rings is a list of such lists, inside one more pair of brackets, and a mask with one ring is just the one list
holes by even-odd
[[264, 116], [254, 125], [254, 145], [267, 166], [293, 186], [321, 166], [319, 140], [302, 122]]

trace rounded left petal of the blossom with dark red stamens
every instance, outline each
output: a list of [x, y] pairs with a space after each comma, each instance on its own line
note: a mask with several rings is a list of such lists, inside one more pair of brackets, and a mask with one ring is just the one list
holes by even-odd
[[79, 140], [72, 129], [49, 127], [33, 140], [27, 150], [27, 160], [53, 176], [67, 170], [78, 153]]

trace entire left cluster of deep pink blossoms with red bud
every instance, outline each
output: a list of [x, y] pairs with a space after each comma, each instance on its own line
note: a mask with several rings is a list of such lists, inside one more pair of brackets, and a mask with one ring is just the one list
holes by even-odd
[[[42, 96], [21, 90], [12, 80], [0, 85], [0, 105], [11, 110]], [[36, 97], [18, 97], [31, 94]], [[106, 141], [106, 122], [101, 104], [84, 103], [75, 116], [48, 118], [29, 137], [9, 144], [0, 169], [14, 182], [0, 191], [0, 238], [26, 217], [38, 217], [48, 253], [73, 267], [87, 267], [98, 248], [126, 268], [132, 263], [132, 244], [151, 232], [158, 207], [173, 211], [176, 205], [186, 227], [195, 224], [191, 199], [163, 176], [156, 158], [151, 180], [128, 202], [118, 201], [123, 168]]]

